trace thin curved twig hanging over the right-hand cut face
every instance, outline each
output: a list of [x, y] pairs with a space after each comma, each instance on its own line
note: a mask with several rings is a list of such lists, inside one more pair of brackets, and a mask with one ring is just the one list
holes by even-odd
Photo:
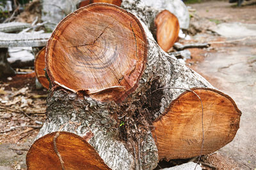
[[[200, 161], [200, 159], [201, 159], [201, 157], [202, 157], [202, 153], [203, 153], [203, 149], [204, 149], [204, 107], [203, 107], [202, 99], [193, 90], [184, 89], [184, 88], [181, 88], [181, 87], [162, 87], [162, 88], [154, 90], [153, 92], [156, 92], [157, 90], [161, 90], [161, 89], [182, 89], [182, 90], [187, 90], [189, 92], [193, 92], [193, 94], [195, 94], [198, 97], [198, 99], [200, 100], [200, 103], [201, 103], [201, 106], [202, 106], [202, 145], [201, 145], [201, 150], [200, 150], [200, 156], [198, 157], [198, 161], [196, 162], [196, 166], [197, 166], [199, 161]], [[195, 166], [195, 169], [196, 169], [196, 166]]]

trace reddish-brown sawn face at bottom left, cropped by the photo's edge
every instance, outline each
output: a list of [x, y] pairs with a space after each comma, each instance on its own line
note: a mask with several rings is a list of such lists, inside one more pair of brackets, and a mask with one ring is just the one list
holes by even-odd
[[[47, 134], [33, 143], [28, 151], [28, 169], [62, 169], [60, 158], [54, 150], [56, 132]], [[69, 132], [60, 132], [56, 148], [67, 169], [109, 169], [95, 149], [83, 138]]]

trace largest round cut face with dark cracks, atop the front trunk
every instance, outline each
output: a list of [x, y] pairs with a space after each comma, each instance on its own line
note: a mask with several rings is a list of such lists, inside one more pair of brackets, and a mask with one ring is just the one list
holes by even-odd
[[93, 3], [58, 24], [45, 57], [53, 86], [99, 101], [122, 101], [138, 87], [147, 62], [147, 38], [131, 13]]

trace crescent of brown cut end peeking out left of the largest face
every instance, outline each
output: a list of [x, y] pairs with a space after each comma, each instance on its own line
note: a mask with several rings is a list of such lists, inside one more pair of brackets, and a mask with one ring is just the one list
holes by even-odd
[[35, 73], [38, 81], [44, 86], [46, 89], [49, 89], [49, 81], [45, 76], [45, 47], [42, 48], [37, 54], [35, 59]]

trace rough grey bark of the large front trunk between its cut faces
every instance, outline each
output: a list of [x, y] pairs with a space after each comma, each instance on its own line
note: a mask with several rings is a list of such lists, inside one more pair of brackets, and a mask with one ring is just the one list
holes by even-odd
[[[111, 169], [154, 169], [158, 156], [149, 120], [154, 121], [162, 115], [184, 90], [162, 89], [156, 93], [151, 92], [161, 87], [191, 89], [212, 88], [212, 85], [175, 57], [161, 50], [149, 30], [152, 15], [149, 11], [143, 11], [141, 1], [126, 0], [122, 7], [140, 19], [148, 39], [147, 65], [138, 88], [125, 101], [116, 104], [113, 101], [101, 103], [90, 97], [79, 99], [72, 92], [54, 87], [47, 99], [49, 118], [36, 139], [55, 131], [72, 132], [82, 137], [92, 132], [93, 137], [88, 142]], [[134, 117], [140, 119], [140, 122], [134, 121]], [[132, 131], [127, 130], [129, 140], [126, 143], [118, 135], [121, 119], [127, 125], [134, 124]], [[138, 138], [131, 138], [136, 135]], [[137, 149], [135, 154], [134, 149]]]

